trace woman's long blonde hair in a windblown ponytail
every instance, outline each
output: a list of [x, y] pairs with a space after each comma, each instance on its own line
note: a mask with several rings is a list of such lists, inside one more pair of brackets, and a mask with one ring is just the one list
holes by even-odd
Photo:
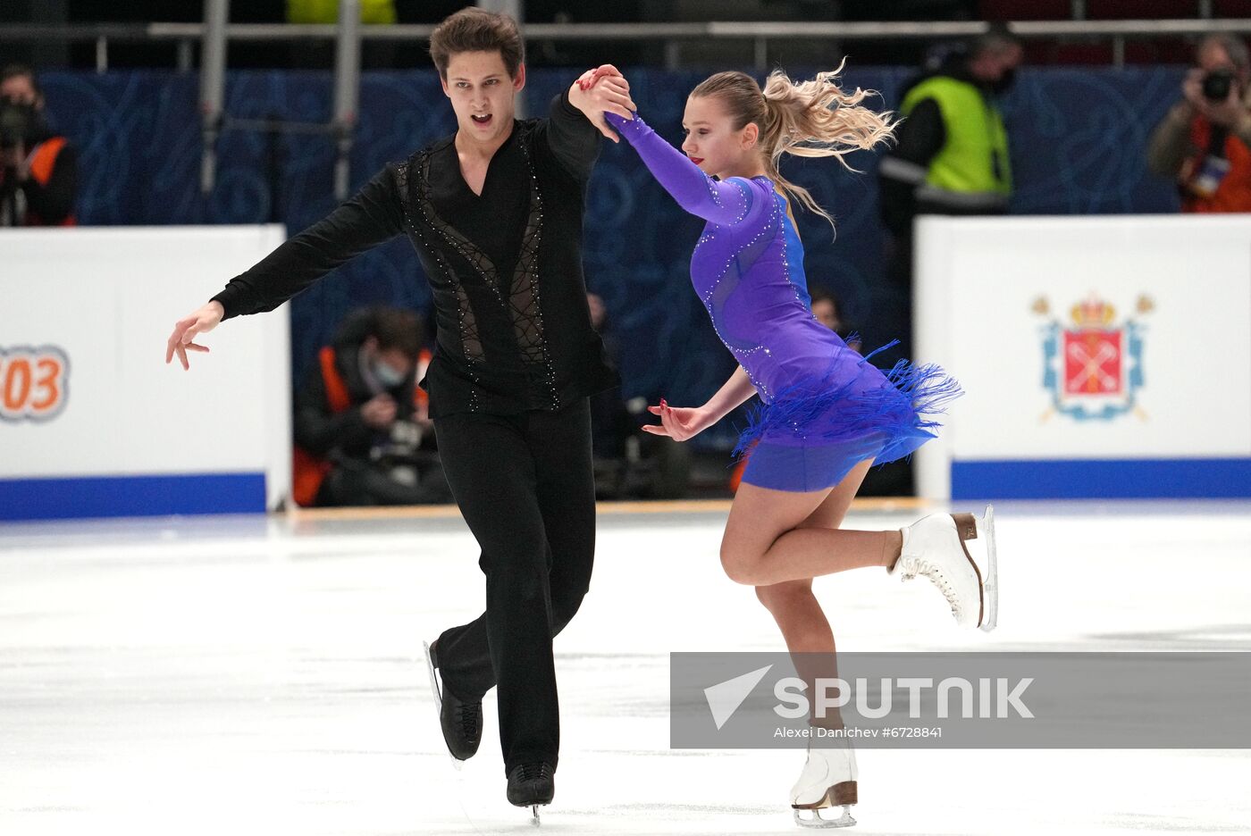
[[718, 72], [691, 91], [692, 96], [721, 99], [734, 121], [734, 130], [756, 122], [761, 130], [757, 144], [764, 152], [769, 179], [831, 224], [833, 217], [808, 190], [778, 171], [782, 155], [833, 156], [848, 171], [856, 171], [844, 155], [888, 141], [898, 124], [891, 111], [877, 112], [861, 105], [876, 91], [856, 87], [848, 92], [838, 86], [844, 65], [846, 61], [837, 70], [818, 72], [811, 81], [793, 81], [782, 70], [774, 70], [763, 90], [746, 72]]

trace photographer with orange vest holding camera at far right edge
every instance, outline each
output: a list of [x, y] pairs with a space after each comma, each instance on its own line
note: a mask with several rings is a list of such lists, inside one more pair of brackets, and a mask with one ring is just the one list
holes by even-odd
[[1251, 211], [1251, 57], [1242, 40], [1208, 35], [1178, 101], [1151, 135], [1147, 165], [1175, 177], [1186, 212]]

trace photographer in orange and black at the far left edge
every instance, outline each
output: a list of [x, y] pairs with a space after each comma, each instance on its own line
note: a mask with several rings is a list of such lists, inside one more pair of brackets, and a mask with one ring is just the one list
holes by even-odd
[[44, 119], [35, 71], [0, 71], [0, 226], [73, 226], [78, 154]]

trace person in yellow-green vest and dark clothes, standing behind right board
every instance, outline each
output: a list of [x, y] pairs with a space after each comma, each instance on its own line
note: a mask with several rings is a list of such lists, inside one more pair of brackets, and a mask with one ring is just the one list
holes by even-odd
[[1012, 86], [1023, 56], [1017, 37], [992, 25], [903, 89], [899, 112], [906, 119], [878, 170], [882, 220], [891, 236], [883, 312], [903, 356], [913, 354], [912, 220], [1008, 210], [1008, 137], [995, 100]]

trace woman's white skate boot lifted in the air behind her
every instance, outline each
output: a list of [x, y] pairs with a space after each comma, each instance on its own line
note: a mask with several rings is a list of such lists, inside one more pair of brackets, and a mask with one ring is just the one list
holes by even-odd
[[[972, 514], [932, 514], [899, 532], [903, 549], [889, 574], [904, 581], [924, 575], [947, 599], [960, 626], [995, 630], [1000, 604], [995, 510], [987, 505], [981, 520]], [[965, 545], [978, 539], [986, 549], [985, 571]]]

